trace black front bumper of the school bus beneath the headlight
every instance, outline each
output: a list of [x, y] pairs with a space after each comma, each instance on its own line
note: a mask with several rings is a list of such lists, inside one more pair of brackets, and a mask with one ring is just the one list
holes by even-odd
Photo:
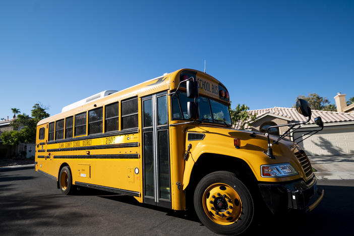
[[280, 184], [258, 184], [267, 207], [273, 214], [297, 210], [312, 211], [322, 200], [324, 190], [318, 190], [317, 180], [286, 182]]

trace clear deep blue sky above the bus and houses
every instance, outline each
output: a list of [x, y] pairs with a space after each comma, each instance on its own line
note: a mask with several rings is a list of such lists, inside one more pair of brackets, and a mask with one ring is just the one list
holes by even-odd
[[1, 1], [0, 118], [204, 69], [232, 107], [354, 96], [354, 1]]

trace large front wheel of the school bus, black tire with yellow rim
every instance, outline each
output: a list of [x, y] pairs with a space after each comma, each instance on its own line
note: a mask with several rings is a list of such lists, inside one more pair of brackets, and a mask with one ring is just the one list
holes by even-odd
[[218, 234], [241, 234], [254, 218], [254, 203], [249, 190], [228, 171], [212, 172], [198, 183], [194, 207], [200, 221]]

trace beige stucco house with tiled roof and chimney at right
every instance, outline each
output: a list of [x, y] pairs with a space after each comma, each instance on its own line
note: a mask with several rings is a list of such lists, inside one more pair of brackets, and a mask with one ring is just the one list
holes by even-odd
[[[312, 110], [311, 121], [297, 131], [310, 131], [319, 129], [315, 124], [315, 117], [321, 116], [324, 129], [319, 133], [305, 139], [304, 133], [294, 133], [293, 138], [300, 142], [300, 146], [308, 155], [349, 155], [354, 154], [354, 103], [346, 105], [345, 94], [334, 97], [339, 112]], [[283, 125], [291, 121], [306, 121], [307, 117], [299, 114], [295, 108], [272, 107], [250, 110], [257, 115], [257, 121], [245, 129], [265, 133], [269, 126]], [[287, 127], [271, 128], [274, 135], [282, 135]], [[301, 142], [304, 139], [303, 142]]]

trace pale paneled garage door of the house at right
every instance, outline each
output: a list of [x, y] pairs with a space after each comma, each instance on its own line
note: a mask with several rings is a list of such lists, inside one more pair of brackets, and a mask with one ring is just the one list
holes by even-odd
[[[296, 133], [294, 138], [300, 135]], [[296, 142], [300, 140], [302, 138], [296, 140]], [[321, 132], [301, 142], [300, 146], [308, 155], [354, 154], [354, 126], [325, 126]]]

